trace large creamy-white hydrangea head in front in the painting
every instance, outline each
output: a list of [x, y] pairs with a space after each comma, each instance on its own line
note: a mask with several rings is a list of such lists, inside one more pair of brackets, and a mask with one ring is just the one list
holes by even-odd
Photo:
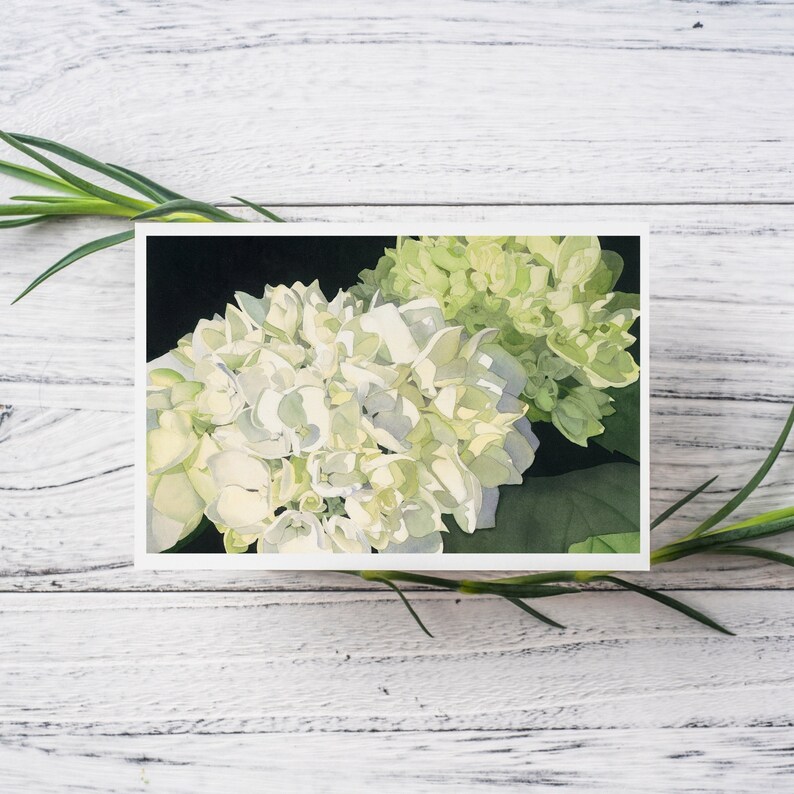
[[206, 515], [227, 552], [441, 552], [494, 525], [537, 448], [523, 365], [433, 299], [237, 293], [152, 362], [149, 551]]

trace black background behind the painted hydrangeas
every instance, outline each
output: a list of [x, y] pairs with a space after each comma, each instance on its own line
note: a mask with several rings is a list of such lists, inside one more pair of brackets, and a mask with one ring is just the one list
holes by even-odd
[[[600, 237], [601, 247], [623, 257], [624, 269], [616, 285], [623, 292], [640, 291], [640, 238]], [[203, 317], [223, 314], [234, 293], [257, 297], [265, 284], [309, 284], [319, 279], [326, 295], [356, 283], [364, 268], [373, 268], [394, 237], [149, 237], [146, 249], [146, 360], [175, 347]], [[632, 328], [637, 343], [631, 353], [640, 363], [640, 320]], [[567, 441], [556, 428], [535, 422], [543, 454], [526, 472], [548, 477], [602, 463], [625, 461], [619, 453], [598, 444], [583, 448]], [[222, 552], [217, 532], [205, 532], [181, 551]]]

